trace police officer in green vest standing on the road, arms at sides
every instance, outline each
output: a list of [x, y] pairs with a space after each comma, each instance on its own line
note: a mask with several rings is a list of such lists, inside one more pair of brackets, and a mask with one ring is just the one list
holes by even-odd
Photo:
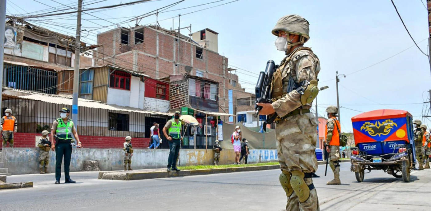
[[[72, 157], [72, 143], [73, 138], [78, 142], [78, 146], [81, 147], [81, 142], [76, 133], [75, 124], [69, 119], [70, 110], [68, 108], [62, 108], [60, 110], [60, 117], [53, 122], [51, 127], [51, 149], [56, 152], [56, 164], [55, 164], [55, 183], [60, 184], [61, 177], [61, 162], [64, 156], [64, 177], [66, 178], [64, 183], [76, 183], [69, 176], [70, 158]], [[54, 133], [56, 134], [56, 143], [54, 145]]]

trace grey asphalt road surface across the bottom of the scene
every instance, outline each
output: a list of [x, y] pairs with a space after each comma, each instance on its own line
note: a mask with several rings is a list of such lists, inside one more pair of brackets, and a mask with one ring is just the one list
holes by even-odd
[[[431, 170], [412, 172], [410, 183], [384, 173], [365, 174], [356, 182], [350, 163], [341, 163], [339, 186], [325, 183], [319, 165], [314, 184], [322, 211], [431, 210]], [[330, 171], [330, 170], [329, 170]], [[97, 172], [71, 173], [76, 184], [55, 185], [54, 174], [8, 177], [8, 182], [34, 181], [33, 188], [1, 190], [0, 211], [145, 210], [145, 211], [281, 211], [286, 196], [279, 170], [237, 172], [150, 180], [98, 180]], [[62, 177], [64, 181], [64, 177]]]

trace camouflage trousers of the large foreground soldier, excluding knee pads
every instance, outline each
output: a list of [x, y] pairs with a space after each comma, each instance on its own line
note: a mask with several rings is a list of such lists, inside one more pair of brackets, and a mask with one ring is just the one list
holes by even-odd
[[[314, 151], [317, 140], [316, 126], [317, 121], [311, 113], [290, 116], [276, 125], [277, 155], [282, 171], [312, 173], [317, 170]], [[304, 180], [306, 185], [313, 183], [312, 178]], [[286, 210], [319, 211], [316, 189], [310, 190], [309, 198], [305, 202], [299, 202], [297, 194], [293, 192], [287, 197]]]

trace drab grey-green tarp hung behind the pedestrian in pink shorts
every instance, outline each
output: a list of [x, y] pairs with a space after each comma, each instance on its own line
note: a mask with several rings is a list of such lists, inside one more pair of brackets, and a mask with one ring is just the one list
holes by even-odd
[[259, 133], [254, 130], [250, 130], [249, 127], [245, 127], [239, 123], [233, 125], [225, 122], [223, 122], [223, 141], [220, 142], [223, 149], [234, 148], [231, 142], [231, 135], [237, 125], [241, 127], [242, 137], [247, 139], [250, 149], [277, 149], [275, 143], [275, 130], [268, 130], [266, 133]]

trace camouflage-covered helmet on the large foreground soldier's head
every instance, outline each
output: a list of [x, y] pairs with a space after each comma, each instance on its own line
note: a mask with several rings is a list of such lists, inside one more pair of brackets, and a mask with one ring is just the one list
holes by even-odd
[[272, 29], [272, 34], [278, 37], [278, 31], [286, 31], [290, 34], [298, 34], [304, 37], [306, 42], [309, 37], [309, 22], [298, 15], [283, 16], [277, 21], [275, 27]]

